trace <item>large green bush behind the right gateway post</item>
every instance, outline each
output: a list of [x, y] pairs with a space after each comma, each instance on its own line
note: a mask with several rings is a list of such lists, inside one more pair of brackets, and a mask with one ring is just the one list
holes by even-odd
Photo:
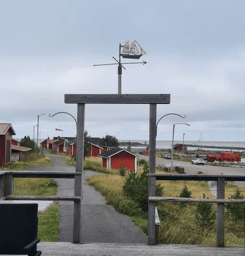
[[[123, 184], [124, 195], [132, 199], [135, 203], [139, 203], [142, 211], [148, 211], [148, 173], [149, 165], [145, 164], [143, 172], [140, 175], [132, 172], [129, 173], [129, 177], [125, 179]], [[163, 194], [163, 187], [156, 185], [156, 196], [163, 196]]]

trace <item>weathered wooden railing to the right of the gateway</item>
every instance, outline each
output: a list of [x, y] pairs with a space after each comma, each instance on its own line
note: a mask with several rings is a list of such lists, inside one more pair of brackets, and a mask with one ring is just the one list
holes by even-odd
[[[217, 199], [204, 198], [179, 198], [179, 197], [148, 197], [148, 215], [154, 214], [155, 202], [193, 202], [193, 203], [217, 203], [217, 246], [225, 245], [224, 235], [224, 203], [245, 203], [245, 199], [225, 199], [225, 181], [245, 181], [244, 176], [238, 175], [210, 175], [210, 174], [159, 174], [149, 173], [149, 179], [155, 180], [195, 180], [195, 181], [217, 181]], [[156, 241], [155, 220], [148, 221], [148, 241]], [[153, 244], [151, 242], [151, 244]]]

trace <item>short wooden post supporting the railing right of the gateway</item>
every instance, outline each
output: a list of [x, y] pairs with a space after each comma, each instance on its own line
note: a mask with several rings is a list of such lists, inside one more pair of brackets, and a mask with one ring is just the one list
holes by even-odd
[[[217, 199], [225, 198], [225, 178], [217, 180]], [[225, 245], [224, 203], [217, 203], [217, 246]]]

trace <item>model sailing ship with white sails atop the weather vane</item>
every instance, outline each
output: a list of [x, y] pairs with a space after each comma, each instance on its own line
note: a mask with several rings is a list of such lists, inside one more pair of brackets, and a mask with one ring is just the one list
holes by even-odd
[[[138, 44], [140, 51], [136, 44]], [[139, 59], [143, 54], [146, 54], [146, 52], [136, 40], [134, 40], [131, 45], [129, 43], [129, 40], [126, 41], [123, 46], [122, 52], [123, 53], [120, 53], [120, 55], [126, 59]]]

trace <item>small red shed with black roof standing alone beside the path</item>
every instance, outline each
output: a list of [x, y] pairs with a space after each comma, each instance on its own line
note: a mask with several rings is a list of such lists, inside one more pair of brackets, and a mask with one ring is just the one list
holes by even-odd
[[100, 154], [102, 157], [102, 167], [107, 169], [120, 169], [122, 165], [126, 169], [136, 172], [137, 170], [137, 155], [123, 148], [114, 148]]

